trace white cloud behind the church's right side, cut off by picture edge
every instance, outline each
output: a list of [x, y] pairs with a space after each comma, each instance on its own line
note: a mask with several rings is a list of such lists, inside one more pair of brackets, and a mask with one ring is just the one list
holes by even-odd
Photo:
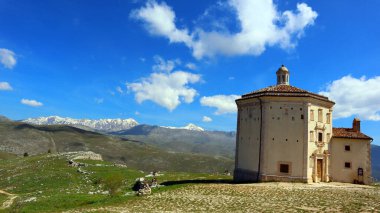
[[334, 118], [355, 115], [363, 120], [380, 120], [380, 76], [369, 79], [344, 76], [328, 84], [319, 94], [336, 103]]

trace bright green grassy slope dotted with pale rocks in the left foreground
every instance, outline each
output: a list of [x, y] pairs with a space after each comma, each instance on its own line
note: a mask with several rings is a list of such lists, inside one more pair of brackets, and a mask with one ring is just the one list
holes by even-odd
[[[92, 160], [78, 160], [87, 164], [81, 167], [85, 174], [79, 173], [77, 167], [68, 166], [68, 159], [70, 156], [45, 154], [0, 160], [0, 212], [60, 212], [118, 205], [136, 199], [131, 187], [136, 178], [146, 175], [113, 163]], [[210, 174], [163, 173], [158, 180], [162, 183], [197, 178], [230, 179]], [[163, 187], [154, 192], [176, 187]], [[10, 199], [13, 199], [11, 205], [1, 209]]]

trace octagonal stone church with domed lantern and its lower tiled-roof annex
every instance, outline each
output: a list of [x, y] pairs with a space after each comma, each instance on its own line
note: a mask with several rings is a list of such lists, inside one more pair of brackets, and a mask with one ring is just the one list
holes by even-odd
[[277, 85], [236, 100], [234, 180], [369, 184], [372, 138], [360, 120], [333, 128], [333, 101], [290, 86], [285, 66], [276, 75]]

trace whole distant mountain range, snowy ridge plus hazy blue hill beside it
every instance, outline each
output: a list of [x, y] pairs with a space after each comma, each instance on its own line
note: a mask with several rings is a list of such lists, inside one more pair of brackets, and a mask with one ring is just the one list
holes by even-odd
[[234, 132], [206, 131], [202, 127], [188, 124], [185, 127], [153, 126], [138, 124], [129, 119], [73, 119], [59, 116], [29, 118], [22, 122], [37, 125], [68, 125], [139, 141], [169, 152], [195, 153], [223, 156], [233, 159], [235, 151]]

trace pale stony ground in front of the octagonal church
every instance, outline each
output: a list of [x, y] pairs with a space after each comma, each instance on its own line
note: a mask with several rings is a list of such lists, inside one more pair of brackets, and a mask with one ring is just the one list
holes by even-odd
[[199, 184], [96, 211], [380, 212], [380, 187], [343, 183]]

